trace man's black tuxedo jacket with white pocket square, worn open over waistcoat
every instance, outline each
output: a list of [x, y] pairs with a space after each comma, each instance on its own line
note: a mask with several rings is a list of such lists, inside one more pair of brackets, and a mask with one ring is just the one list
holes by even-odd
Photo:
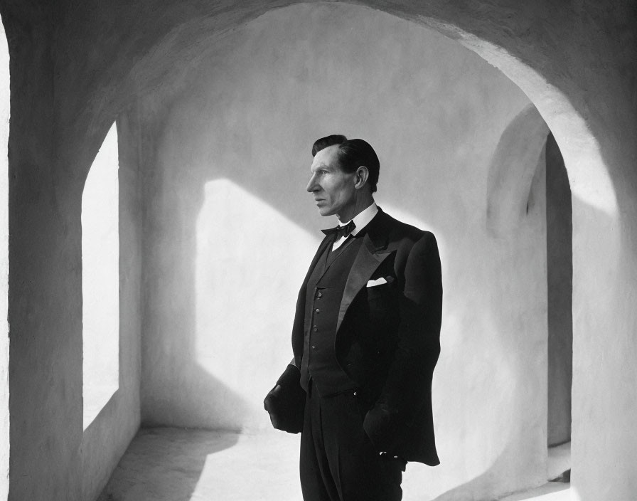
[[[363, 427], [378, 451], [437, 465], [431, 389], [440, 352], [442, 284], [436, 238], [380, 209], [363, 231], [338, 312], [336, 358], [370, 403]], [[332, 240], [323, 239], [301, 285], [292, 328], [294, 359], [278, 381], [296, 392], [296, 401], [302, 400], [298, 368], [309, 329], [306, 285]], [[279, 411], [296, 413], [286, 416], [287, 422], [302, 422], [299, 405]]]

